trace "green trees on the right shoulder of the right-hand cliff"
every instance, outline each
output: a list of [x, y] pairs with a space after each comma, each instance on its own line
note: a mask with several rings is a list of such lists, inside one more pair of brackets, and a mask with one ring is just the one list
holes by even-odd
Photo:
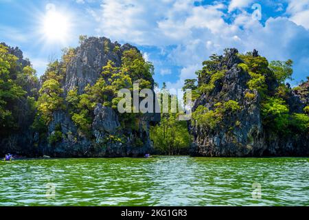
[[[262, 98], [263, 124], [270, 132], [281, 135], [309, 132], [309, 117], [304, 113], [290, 113], [287, 104], [291, 89], [285, 85], [292, 80], [293, 61], [272, 61], [268, 63], [262, 56], [240, 54], [244, 63], [238, 66], [247, 71], [251, 80], [247, 83], [251, 91], [258, 90]], [[247, 98], [254, 98], [251, 93]], [[306, 108], [304, 109], [306, 112]]]

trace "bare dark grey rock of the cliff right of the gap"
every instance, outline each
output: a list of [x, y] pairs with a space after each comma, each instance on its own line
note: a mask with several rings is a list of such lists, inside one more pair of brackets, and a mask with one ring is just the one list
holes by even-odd
[[[259, 56], [254, 51], [252, 56]], [[219, 56], [212, 67], [215, 72], [223, 71], [224, 76], [214, 83], [214, 89], [202, 94], [194, 102], [193, 111], [199, 106], [215, 109], [218, 102], [235, 100], [240, 105], [236, 113], [226, 113], [216, 129], [203, 129], [190, 124], [194, 136], [190, 148], [193, 156], [209, 157], [254, 157], [254, 156], [290, 156], [309, 155], [309, 138], [307, 134], [275, 135], [267, 129], [262, 121], [261, 94], [248, 88], [251, 76], [239, 67], [243, 63], [236, 49], [227, 50], [225, 56]], [[198, 83], [209, 83], [211, 76], [198, 78]], [[275, 82], [266, 82], [268, 87], [277, 87]], [[306, 87], [307, 90], [304, 88]], [[289, 91], [287, 102], [290, 113], [301, 113], [308, 105], [308, 83], [302, 89]], [[300, 92], [306, 90], [306, 92]], [[246, 96], [251, 94], [251, 98]]]

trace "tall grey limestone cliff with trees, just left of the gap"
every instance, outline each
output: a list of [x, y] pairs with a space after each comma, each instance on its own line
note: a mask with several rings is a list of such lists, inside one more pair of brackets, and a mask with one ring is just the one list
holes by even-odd
[[[65, 109], [54, 111], [48, 124], [47, 136], [56, 137], [55, 131], [61, 135], [55, 141], [41, 142], [39, 146], [43, 153], [60, 157], [137, 157], [152, 151], [149, 126], [151, 122], [159, 122], [160, 115], [130, 113], [124, 116], [117, 111], [114, 103], [117, 89], [132, 89], [131, 83], [141, 79], [146, 80], [150, 89], [154, 88], [154, 81], [149, 75], [151, 69], [145, 67], [146, 74], [137, 75], [139, 73], [134, 67], [124, 67], [125, 58], [130, 59], [126, 65], [137, 61], [139, 63], [136, 65], [141, 65], [141, 68], [148, 65], [136, 47], [111, 43], [104, 37], [84, 39], [80, 47], [73, 49], [60, 80], [62, 96], [68, 98], [68, 93], [76, 89], [74, 97], [84, 98], [86, 95], [93, 106], [87, 106], [89, 111], [85, 116], [83, 111], [87, 107], [74, 109], [73, 102], [67, 100]], [[113, 70], [108, 69], [104, 74], [106, 65], [110, 65], [108, 68]], [[124, 79], [128, 81], [115, 87], [118, 80]], [[90, 92], [91, 95], [86, 94], [89, 88], [93, 91]], [[100, 93], [94, 92], [94, 89], [107, 91]], [[80, 103], [82, 102], [81, 100]], [[70, 107], [74, 109], [73, 113]], [[84, 124], [80, 121], [88, 118], [88, 127], [84, 129]]]

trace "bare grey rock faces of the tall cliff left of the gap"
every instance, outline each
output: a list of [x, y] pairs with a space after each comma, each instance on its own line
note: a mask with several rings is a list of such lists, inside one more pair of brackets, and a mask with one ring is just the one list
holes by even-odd
[[[123, 53], [130, 49], [137, 50], [128, 44], [111, 43], [104, 37], [90, 37], [84, 40], [80, 47], [76, 48], [76, 56], [67, 65], [62, 82], [65, 94], [74, 88], [78, 88], [78, 94], [83, 94], [84, 87], [94, 85], [102, 76], [102, 67], [108, 61], [113, 61], [116, 67], [121, 66]], [[107, 82], [108, 78], [105, 80]], [[89, 138], [78, 131], [68, 111], [54, 112], [47, 135], [53, 135], [58, 126], [61, 128], [62, 140], [56, 144], [41, 142], [40, 151], [53, 157], [137, 157], [152, 151], [149, 126], [152, 122], [159, 122], [159, 114], [139, 117], [137, 131], [123, 129], [120, 126], [117, 109], [98, 104], [93, 114], [91, 138]], [[115, 137], [119, 136], [125, 137], [125, 140], [121, 142], [115, 140]], [[141, 140], [139, 144], [137, 139]]]

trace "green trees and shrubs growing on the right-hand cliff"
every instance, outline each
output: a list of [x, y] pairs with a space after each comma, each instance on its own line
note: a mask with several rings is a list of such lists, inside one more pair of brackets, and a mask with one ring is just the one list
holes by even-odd
[[[194, 89], [198, 96], [211, 94], [216, 86], [222, 85], [222, 78], [225, 77], [225, 67], [220, 67], [222, 70], [218, 71], [218, 63], [224, 58], [224, 56], [212, 55], [209, 61], [204, 61], [203, 69], [196, 72], [198, 85], [194, 85], [195, 80], [187, 80], [184, 89]], [[262, 120], [266, 129], [282, 135], [308, 133], [308, 107], [304, 108], [304, 113], [291, 113], [287, 104], [292, 89], [285, 85], [285, 82], [292, 80], [293, 61], [272, 61], [268, 63], [266, 58], [253, 56], [251, 52], [238, 54], [238, 58], [242, 61], [238, 64], [238, 67], [251, 77], [247, 82], [249, 91], [244, 94], [244, 98], [254, 100], [256, 98], [255, 91], [258, 91], [261, 98]], [[306, 97], [308, 91], [303, 88], [296, 87], [294, 91]], [[228, 110], [231, 110], [231, 112], [240, 111], [238, 102], [234, 100], [229, 100], [223, 104], [217, 102], [211, 109], [199, 106], [192, 114], [192, 124], [202, 126], [208, 131], [214, 130], [220, 126], [220, 122], [229, 117], [229, 115], [226, 115]]]

